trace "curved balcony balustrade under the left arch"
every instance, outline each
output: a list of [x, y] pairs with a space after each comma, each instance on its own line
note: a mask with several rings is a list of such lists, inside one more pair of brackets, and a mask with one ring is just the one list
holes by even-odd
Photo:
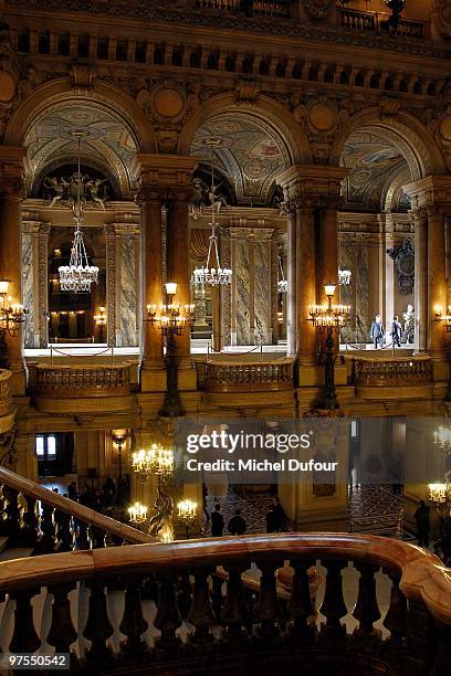
[[65, 398], [118, 397], [130, 392], [130, 365], [61, 366], [29, 362], [29, 390], [36, 395]]

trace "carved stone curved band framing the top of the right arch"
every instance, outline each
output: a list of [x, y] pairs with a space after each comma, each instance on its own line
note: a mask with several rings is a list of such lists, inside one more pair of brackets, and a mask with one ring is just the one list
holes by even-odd
[[339, 165], [345, 144], [353, 133], [368, 128], [384, 130], [390, 137], [406, 157], [412, 180], [445, 173], [441, 152], [420, 120], [403, 110], [388, 115], [376, 107], [358, 113], [338, 131], [332, 147], [331, 163]]

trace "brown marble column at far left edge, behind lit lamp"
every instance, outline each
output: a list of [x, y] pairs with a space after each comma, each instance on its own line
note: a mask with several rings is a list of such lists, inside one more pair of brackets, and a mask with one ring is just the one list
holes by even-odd
[[[22, 214], [23, 159], [21, 147], [0, 147], [0, 275], [10, 281], [9, 295], [22, 302]], [[7, 336], [9, 367], [12, 371], [12, 393], [25, 393], [25, 370], [22, 358], [23, 328], [15, 337]]]

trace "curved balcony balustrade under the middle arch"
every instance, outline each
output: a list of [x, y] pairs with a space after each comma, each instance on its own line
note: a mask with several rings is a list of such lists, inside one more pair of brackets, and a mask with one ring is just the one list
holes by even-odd
[[206, 363], [204, 388], [210, 392], [291, 390], [293, 359], [273, 361], [213, 361]]

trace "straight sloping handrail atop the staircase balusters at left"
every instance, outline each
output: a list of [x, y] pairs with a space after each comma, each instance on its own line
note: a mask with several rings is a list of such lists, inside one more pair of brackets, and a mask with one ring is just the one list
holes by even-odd
[[15, 474], [15, 472], [11, 472], [6, 467], [0, 467], [0, 484], [17, 490], [22, 495], [41, 500], [41, 503], [51, 508], [67, 514], [78, 521], [90, 524], [92, 527], [106, 531], [126, 542], [130, 542], [133, 545], [155, 542], [155, 538], [150, 535], [145, 534], [137, 528], [133, 528], [132, 526], [127, 526], [126, 524], [122, 524], [116, 519], [112, 519], [111, 517], [99, 514], [94, 509], [90, 509], [90, 507], [80, 505], [80, 503], [75, 503], [74, 500], [59, 495], [57, 493], [53, 493], [53, 490], [50, 490], [44, 486], [40, 486], [39, 484], [35, 484], [24, 476], [20, 476], [19, 474]]

